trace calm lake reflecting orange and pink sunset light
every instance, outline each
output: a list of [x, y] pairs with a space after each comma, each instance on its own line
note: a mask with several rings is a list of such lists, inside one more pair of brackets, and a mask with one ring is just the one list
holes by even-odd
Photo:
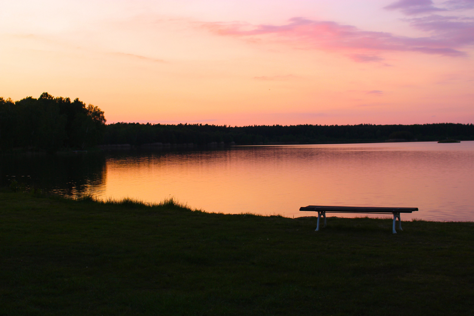
[[315, 215], [299, 211], [307, 205], [417, 207], [402, 220], [474, 220], [473, 141], [4, 155], [0, 168], [2, 185], [17, 179], [68, 196], [174, 197], [208, 212], [299, 217]]

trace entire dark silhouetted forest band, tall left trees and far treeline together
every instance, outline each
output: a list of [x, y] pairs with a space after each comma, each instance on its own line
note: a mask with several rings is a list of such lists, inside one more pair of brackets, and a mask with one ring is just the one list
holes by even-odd
[[330, 144], [386, 140], [474, 140], [473, 124], [217, 126], [202, 124], [105, 124], [104, 112], [79, 99], [43, 93], [13, 102], [0, 98], [1, 150], [83, 149], [101, 144]]

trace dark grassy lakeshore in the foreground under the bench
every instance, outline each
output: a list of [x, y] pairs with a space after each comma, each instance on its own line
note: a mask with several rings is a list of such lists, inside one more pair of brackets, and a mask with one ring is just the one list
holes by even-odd
[[474, 223], [315, 223], [1, 192], [0, 315], [474, 315]]

